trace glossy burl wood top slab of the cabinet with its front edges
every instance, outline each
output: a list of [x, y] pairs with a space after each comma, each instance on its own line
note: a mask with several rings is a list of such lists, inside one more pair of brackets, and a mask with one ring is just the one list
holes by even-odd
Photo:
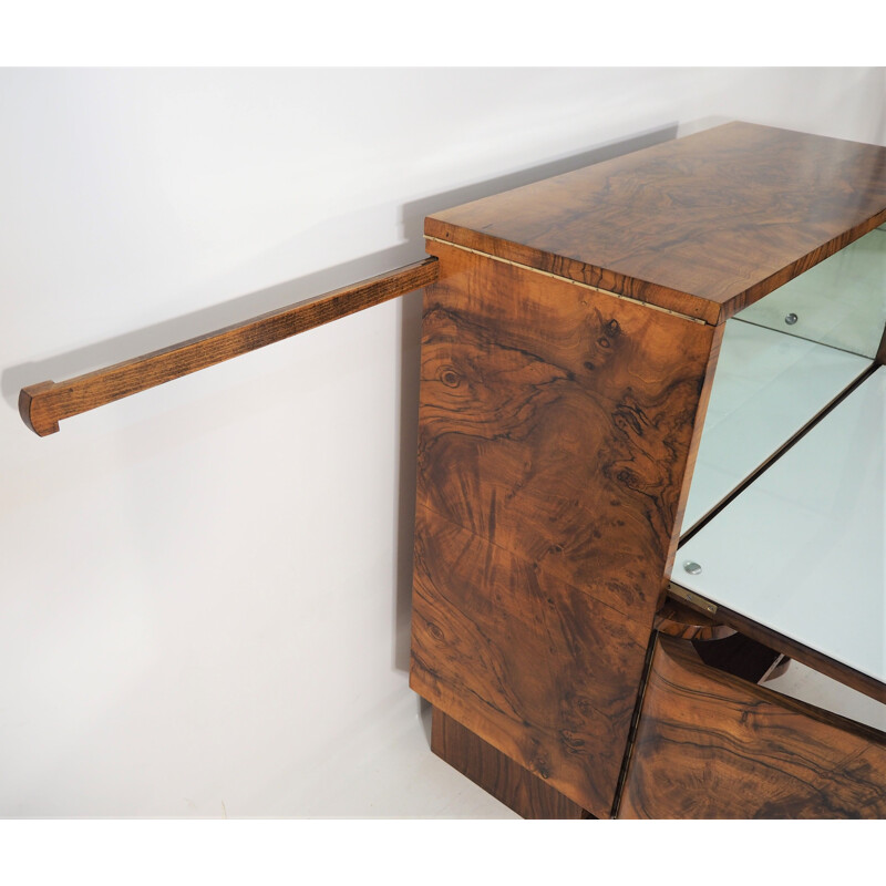
[[425, 234], [719, 323], [884, 222], [886, 147], [729, 123], [436, 213]]

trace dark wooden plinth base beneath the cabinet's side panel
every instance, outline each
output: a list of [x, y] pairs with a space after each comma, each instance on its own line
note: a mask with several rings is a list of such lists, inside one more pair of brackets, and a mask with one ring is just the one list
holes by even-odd
[[524, 818], [594, 817], [436, 708], [431, 750]]

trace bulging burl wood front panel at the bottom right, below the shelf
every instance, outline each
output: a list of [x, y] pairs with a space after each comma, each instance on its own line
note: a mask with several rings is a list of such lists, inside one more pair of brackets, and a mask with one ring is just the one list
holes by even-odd
[[619, 817], [877, 818], [886, 734], [707, 668], [659, 637]]

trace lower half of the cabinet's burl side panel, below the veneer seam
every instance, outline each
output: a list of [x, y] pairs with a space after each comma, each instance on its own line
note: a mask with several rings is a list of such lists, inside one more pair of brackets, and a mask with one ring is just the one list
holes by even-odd
[[648, 627], [419, 505], [410, 686], [611, 814]]

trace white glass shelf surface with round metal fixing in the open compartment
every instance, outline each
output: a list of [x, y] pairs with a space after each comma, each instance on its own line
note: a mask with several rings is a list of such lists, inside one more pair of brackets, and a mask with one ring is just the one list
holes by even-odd
[[886, 682], [885, 463], [879, 368], [678, 550], [673, 580]]

